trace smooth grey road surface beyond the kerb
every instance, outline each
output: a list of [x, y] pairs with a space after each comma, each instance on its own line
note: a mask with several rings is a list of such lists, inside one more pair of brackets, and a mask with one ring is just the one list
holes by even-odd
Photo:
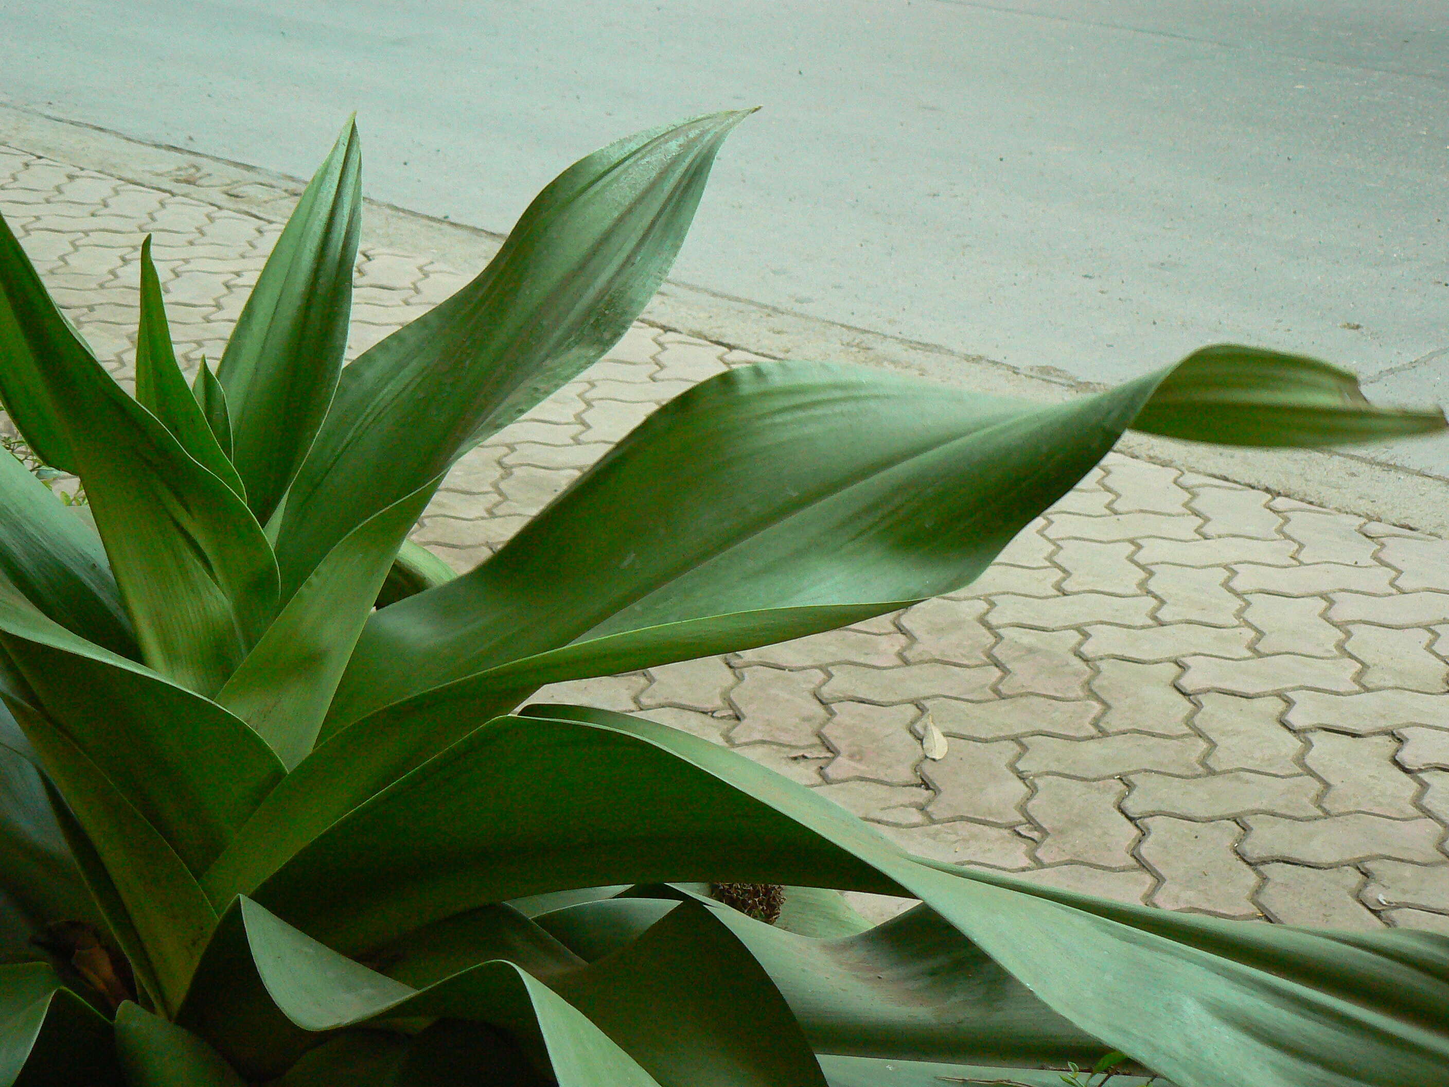
[[[574, 157], [732, 141], [675, 278], [1062, 381], [1203, 342], [1449, 396], [1442, 4], [10, 0], [0, 97], [504, 230]], [[1369, 451], [1449, 477], [1449, 442]]]

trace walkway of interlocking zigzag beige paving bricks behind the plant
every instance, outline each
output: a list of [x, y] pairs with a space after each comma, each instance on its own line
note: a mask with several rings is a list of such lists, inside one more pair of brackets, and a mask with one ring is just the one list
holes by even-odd
[[[123, 378], [142, 232], [193, 365], [280, 229], [6, 148], [0, 212]], [[352, 351], [464, 280], [364, 246]], [[465, 457], [416, 538], [468, 568], [655, 406], [752, 359], [635, 326]], [[1449, 932], [1446, 675], [1449, 544], [1113, 455], [966, 591], [543, 697], [727, 744], [933, 857], [1169, 909]]]

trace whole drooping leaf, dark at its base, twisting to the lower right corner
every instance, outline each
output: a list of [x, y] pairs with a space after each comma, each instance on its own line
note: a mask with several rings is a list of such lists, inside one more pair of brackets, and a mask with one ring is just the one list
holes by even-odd
[[472, 904], [620, 878], [906, 893], [1182, 1087], [1432, 1087], [1449, 1062], [1443, 936], [1233, 923], [935, 864], [688, 733], [536, 712], [551, 716], [481, 728], [341, 819], [258, 901], [361, 954]]

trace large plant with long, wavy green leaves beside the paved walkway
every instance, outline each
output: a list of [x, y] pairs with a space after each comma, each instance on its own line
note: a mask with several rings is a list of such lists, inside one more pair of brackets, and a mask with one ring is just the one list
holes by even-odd
[[[961, 588], [1129, 428], [1443, 426], [1239, 346], [1053, 404], [765, 362], [452, 577], [409, 529], [623, 335], [740, 116], [584, 158], [348, 367], [351, 126], [190, 387], [146, 248], [132, 396], [0, 230], [0, 399], [90, 500], [0, 455], [4, 1083], [1040, 1084], [1117, 1054], [1184, 1087], [1445, 1083], [1443, 936], [940, 864], [684, 732], [517, 709]], [[726, 883], [782, 886], [778, 923]], [[920, 904], [869, 928], [840, 890]]]

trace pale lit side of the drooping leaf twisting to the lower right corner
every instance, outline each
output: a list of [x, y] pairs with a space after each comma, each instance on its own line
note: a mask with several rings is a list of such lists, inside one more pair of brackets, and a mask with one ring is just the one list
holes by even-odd
[[606, 710], [564, 713], [649, 738], [869, 858], [1055, 1012], [1182, 1087], [1429, 1087], [1449, 1067], [1449, 938], [1226, 922], [910, 858], [862, 842], [864, 828], [823, 797], [696, 736]]

